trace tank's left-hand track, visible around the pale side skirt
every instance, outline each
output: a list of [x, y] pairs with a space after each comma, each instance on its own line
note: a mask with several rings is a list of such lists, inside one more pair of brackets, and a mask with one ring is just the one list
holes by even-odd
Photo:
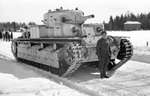
[[[68, 51], [69, 47], [71, 47], [73, 49], [73, 50], [71, 49], [72, 50], [71, 51], [71, 55], [74, 56], [74, 59], [72, 59], [73, 62], [69, 66], [67, 71], [64, 74], [61, 75], [62, 77], [66, 77], [66, 76], [72, 75], [80, 67], [81, 59], [82, 59], [81, 58], [82, 57], [81, 54], [79, 55], [79, 53], [81, 53], [81, 46], [77, 42], [68, 43], [67, 45], [69, 45], [69, 46], [65, 46], [65, 50]], [[17, 42], [16, 41], [12, 41], [12, 43], [11, 43], [11, 51], [12, 51], [13, 56], [15, 57], [16, 61], [26, 63], [28, 65], [31, 65], [31, 66], [43, 69], [45, 71], [50, 71], [48, 65], [44, 65], [44, 64], [28, 61], [28, 60], [25, 60], [25, 59], [22, 59], [22, 58], [18, 58], [17, 57]], [[67, 58], [65, 58], [65, 59], [67, 59]], [[58, 70], [57, 75], [60, 75], [59, 74], [59, 70]]]

